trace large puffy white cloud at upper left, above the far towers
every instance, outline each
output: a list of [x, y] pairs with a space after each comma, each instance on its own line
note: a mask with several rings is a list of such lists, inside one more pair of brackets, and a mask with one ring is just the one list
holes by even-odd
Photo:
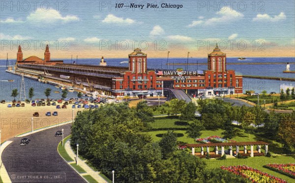
[[78, 21], [79, 18], [74, 15], [67, 15], [62, 16], [59, 11], [55, 9], [50, 9], [48, 11], [44, 11], [41, 8], [38, 8], [35, 12], [29, 14], [27, 17], [29, 22], [36, 22], [36, 23], [53, 23], [57, 21], [62, 22], [71, 22], [71, 21]]

